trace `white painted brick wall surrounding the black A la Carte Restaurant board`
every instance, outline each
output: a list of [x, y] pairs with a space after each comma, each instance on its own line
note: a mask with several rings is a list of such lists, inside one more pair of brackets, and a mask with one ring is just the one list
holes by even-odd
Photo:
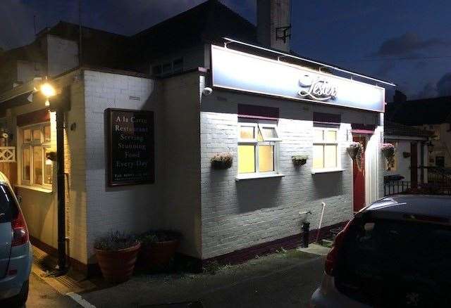
[[[87, 184], [87, 255], [94, 258], [94, 240], [109, 231], [142, 232], [161, 227], [159, 203], [159, 164], [156, 184], [106, 186], [106, 108], [155, 110], [151, 79], [85, 70], [86, 184]], [[140, 100], [130, 99], [140, 97]], [[158, 113], [157, 113], [158, 114]], [[158, 134], [159, 123], [155, 121]], [[159, 148], [156, 136], [156, 148]], [[156, 161], [159, 160], [156, 153]]]

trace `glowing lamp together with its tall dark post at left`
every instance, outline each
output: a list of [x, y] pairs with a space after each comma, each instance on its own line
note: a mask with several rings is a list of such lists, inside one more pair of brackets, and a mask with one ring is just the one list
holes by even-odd
[[[64, 185], [64, 109], [63, 95], [56, 96], [56, 89], [49, 82], [40, 86], [46, 98], [45, 105], [56, 111], [56, 186], [58, 193], [58, 268], [59, 273], [66, 271], [66, 189]], [[66, 98], [67, 99], [67, 98]], [[51, 102], [52, 103], [51, 103]]]

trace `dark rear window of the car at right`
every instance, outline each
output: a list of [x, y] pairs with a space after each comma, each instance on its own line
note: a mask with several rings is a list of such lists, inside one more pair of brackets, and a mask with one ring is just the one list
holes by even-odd
[[404, 296], [396, 292], [400, 285], [447, 297], [450, 259], [450, 226], [362, 219], [346, 234], [335, 284], [347, 296], [375, 306]]

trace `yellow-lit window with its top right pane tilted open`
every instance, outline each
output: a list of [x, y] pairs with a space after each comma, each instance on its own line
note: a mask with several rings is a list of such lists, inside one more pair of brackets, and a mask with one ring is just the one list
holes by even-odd
[[276, 124], [240, 122], [238, 127], [238, 174], [276, 173]]

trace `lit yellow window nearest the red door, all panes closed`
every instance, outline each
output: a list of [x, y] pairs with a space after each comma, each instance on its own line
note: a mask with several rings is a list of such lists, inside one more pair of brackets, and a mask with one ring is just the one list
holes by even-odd
[[338, 169], [338, 129], [314, 127], [313, 169]]

